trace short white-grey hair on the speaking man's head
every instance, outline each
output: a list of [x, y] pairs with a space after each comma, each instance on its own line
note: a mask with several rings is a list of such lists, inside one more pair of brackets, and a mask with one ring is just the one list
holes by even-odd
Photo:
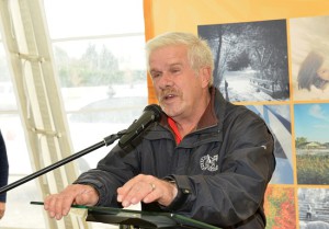
[[192, 33], [182, 32], [169, 32], [156, 36], [155, 38], [146, 43], [146, 60], [147, 69], [149, 70], [149, 56], [150, 54], [161, 47], [173, 46], [173, 45], [184, 45], [188, 48], [188, 59], [191, 68], [197, 73], [203, 67], [211, 68], [211, 81], [209, 87], [213, 85], [214, 77], [214, 57], [213, 53], [206, 43], [206, 41], [195, 36]]

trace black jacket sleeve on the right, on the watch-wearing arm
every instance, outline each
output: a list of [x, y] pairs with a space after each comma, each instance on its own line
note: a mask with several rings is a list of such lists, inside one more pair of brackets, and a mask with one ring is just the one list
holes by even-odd
[[171, 175], [180, 192], [166, 210], [220, 227], [247, 221], [263, 211], [265, 188], [275, 168], [272, 134], [247, 108], [226, 118], [223, 131], [218, 173]]

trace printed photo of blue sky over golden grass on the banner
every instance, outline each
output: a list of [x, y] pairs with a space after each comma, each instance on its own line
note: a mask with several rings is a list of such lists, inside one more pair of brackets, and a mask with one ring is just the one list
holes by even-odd
[[295, 104], [298, 184], [329, 184], [329, 104]]

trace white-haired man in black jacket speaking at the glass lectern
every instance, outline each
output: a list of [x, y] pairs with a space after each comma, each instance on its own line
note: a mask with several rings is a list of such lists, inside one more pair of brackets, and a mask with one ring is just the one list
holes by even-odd
[[265, 123], [213, 87], [207, 44], [166, 33], [146, 45], [159, 123], [126, 147], [115, 146], [97, 169], [45, 199], [60, 219], [71, 204], [171, 211], [223, 228], [265, 228], [263, 199], [275, 168]]

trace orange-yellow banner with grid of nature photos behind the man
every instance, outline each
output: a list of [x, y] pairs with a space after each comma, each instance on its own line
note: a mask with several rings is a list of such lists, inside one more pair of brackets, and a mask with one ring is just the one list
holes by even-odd
[[[168, 31], [205, 38], [216, 56], [215, 85], [274, 133], [277, 165], [266, 191], [266, 228], [328, 224], [329, 85], [300, 89], [297, 76], [311, 50], [329, 55], [329, 1], [145, 0], [144, 8], [147, 39]], [[148, 82], [149, 103], [156, 103]]]

